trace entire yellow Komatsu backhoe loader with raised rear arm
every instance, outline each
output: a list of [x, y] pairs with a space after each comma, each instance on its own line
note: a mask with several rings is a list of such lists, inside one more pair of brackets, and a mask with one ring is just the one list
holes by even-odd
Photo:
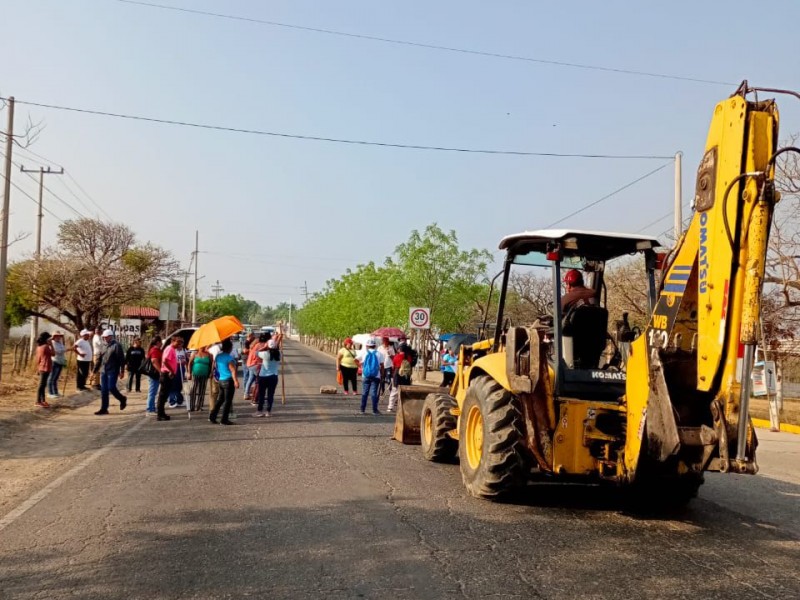
[[[606, 481], [685, 502], [705, 471], [755, 473], [749, 373], [778, 201], [775, 159], [797, 151], [777, 150], [777, 107], [750, 100], [759, 91], [782, 92], [745, 82], [715, 107], [694, 215], [666, 255], [641, 235], [505, 237], [494, 337], [461, 348], [449, 393], [401, 392], [395, 437], [421, 438], [432, 461], [458, 456], [467, 490], [482, 498], [545, 478]], [[616, 309], [604, 273], [637, 256], [650, 317], [623, 353], [608, 334]], [[550, 314], [520, 326], [504, 318], [509, 278], [532, 266], [551, 272], [554, 302]], [[567, 305], [561, 284], [573, 270], [591, 292]]]

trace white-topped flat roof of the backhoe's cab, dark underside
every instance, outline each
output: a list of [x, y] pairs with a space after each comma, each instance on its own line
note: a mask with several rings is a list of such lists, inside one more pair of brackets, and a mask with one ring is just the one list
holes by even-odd
[[554, 243], [559, 243], [565, 254], [596, 260], [608, 260], [661, 246], [658, 239], [647, 235], [579, 229], [538, 229], [507, 235], [500, 240], [500, 249], [512, 254], [547, 252]]

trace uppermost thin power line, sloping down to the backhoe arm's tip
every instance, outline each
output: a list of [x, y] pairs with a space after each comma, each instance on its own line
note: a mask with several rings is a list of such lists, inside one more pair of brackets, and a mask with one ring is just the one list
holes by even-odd
[[347, 38], [354, 38], [360, 40], [369, 40], [372, 42], [382, 42], [385, 44], [396, 44], [400, 46], [411, 46], [415, 48], [425, 48], [428, 50], [440, 50], [444, 52], [455, 52], [458, 54], [471, 54], [473, 56], [485, 56], [489, 58], [500, 58], [505, 60], [515, 60], [515, 61], [522, 61], [522, 62], [529, 62], [529, 63], [537, 63], [542, 65], [550, 65], [554, 67], [569, 67], [572, 69], [585, 69], [590, 71], [605, 71], [607, 73], [617, 73], [620, 75], [635, 75], [639, 77], [655, 77], [659, 79], [671, 79], [677, 81], [690, 81], [692, 83], [707, 83], [711, 85], [725, 85], [725, 86], [733, 86], [736, 85], [735, 83], [730, 83], [727, 81], [716, 81], [713, 79], [702, 79], [698, 77], [688, 77], [682, 75], [670, 75], [667, 73], [656, 73], [652, 71], [637, 71], [634, 69], [621, 69], [617, 67], [604, 67], [601, 65], [589, 65], [583, 63], [574, 63], [574, 62], [567, 62], [562, 60], [549, 60], [544, 58], [535, 58], [531, 56], [519, 56], [514, 54], [503, 54], [500, 52], [487, 52], [483, 50], [471, 50], [468, 48], [457, 48], [454, 46], [441, 46], [438, 44], [426, 44], [423, 42], [412, 42], [408, 40], [398, 40], [393, 38], [385, 38], [379, 37], [374, 35], [366, 35], [360, 33], [348, 33], [345, 31], [336, 31], [333, 29], [323, 29], [320, 27], [309, 27], [305, 25], [294, 25], [291, 23], [281, 23], [278, 21], [268, 21], [265, 19], [256, 19], [254, 17], [242, 17], [237, 15], [229, 15], [229, 14], [222, 14], [222, 13], [214, 13], [208, 12], [203, 10], [196, 10], [192, 8], [182, 8], [178, 6], [169, 6], [166, 4], [154, 4], [151, 2], [140, 2], [138, 0], [116, 0], [117, 2], [121, 2], [123, 4], [132, 4], [136, 6], [144, 6], [148, 8], [158, 8], [161, 10], [170, 10], [174, 12], [182, 12], [182, 13], [190, 13], [195, 15], [202, 15], [205, 17], [214, 17], [218, 19], [227, 19], [230, 21], [243, 21], [246, 23], [254, 23], [257, 25], [269, 25], [272, 27], [283, 27], [286, 29], [295, 29], [300, 31], [309, 31], [313, 33], [323, 33], [326, 35], [333, 35], [339, 37], [347, 37]]

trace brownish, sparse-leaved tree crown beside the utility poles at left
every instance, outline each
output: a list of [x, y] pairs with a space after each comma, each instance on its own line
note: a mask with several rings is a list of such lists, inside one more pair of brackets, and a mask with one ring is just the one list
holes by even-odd
[[57, 243], [38, 263], [26, 259], [10, 271], [10, 298], [30, 315], [59, 325], [66, 319], [77, 333], [154, 293], [178, 265], [163, 248], [138, 243], [126, 225], [78, 219], [59, 226]]

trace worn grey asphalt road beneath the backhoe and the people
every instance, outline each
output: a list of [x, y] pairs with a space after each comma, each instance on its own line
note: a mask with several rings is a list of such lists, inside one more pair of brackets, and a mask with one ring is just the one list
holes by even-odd
[[286, 358], [270, 419], [239, 397], [232, 427], [158, 423], [132, 396], [0, 441], [0, 598], [800, 598], [798, 436], [679, 514], [574, 485], [493, 504], [319, 395], [330, 358]]

